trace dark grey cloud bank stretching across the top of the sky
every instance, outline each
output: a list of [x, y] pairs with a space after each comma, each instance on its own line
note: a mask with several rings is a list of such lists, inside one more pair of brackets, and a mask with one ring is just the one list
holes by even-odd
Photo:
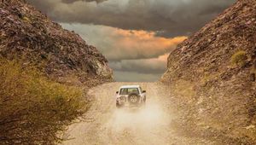
[[92, 0], [28, 1], [59, 22], [158, 31], [160, 36], [173, 37], [195, 32], [236, 0], [108, 0], [98, 4], [86, 3]]

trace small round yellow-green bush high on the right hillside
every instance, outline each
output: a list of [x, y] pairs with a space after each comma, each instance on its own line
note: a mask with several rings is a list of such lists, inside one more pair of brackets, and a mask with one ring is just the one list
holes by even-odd
[[243, 50], [237, 51], [236, 54], [232, 55], [231, 63], [236, 66], [243, 67], [247, 62], [247, 53]]

